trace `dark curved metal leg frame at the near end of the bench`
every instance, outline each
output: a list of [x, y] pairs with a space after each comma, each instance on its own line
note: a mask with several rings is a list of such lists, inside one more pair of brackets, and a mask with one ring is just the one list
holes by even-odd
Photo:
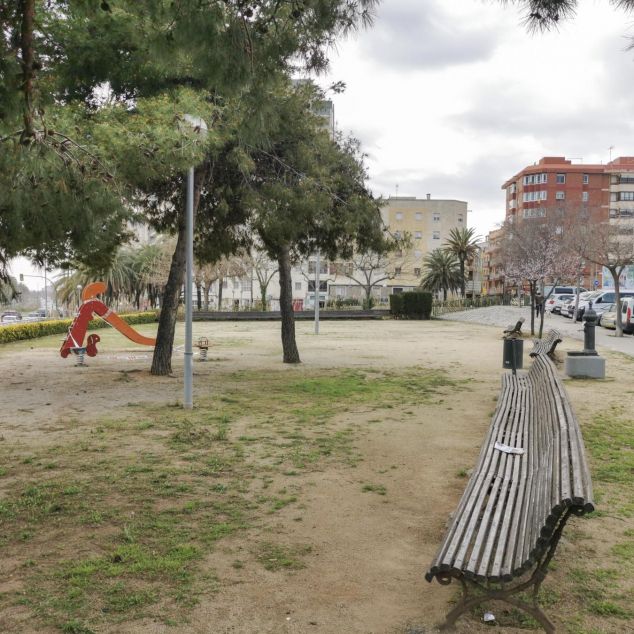
[[[502, 584], [501, 588], [490, 588], [486, 585], [479, 583], [473, 579], [468, 579], [464, 576], [458, 577], [462, 585], [462, 598], [458, 602], [458, 605], [447, 614], [445, 617], [445, 622], [439, 626], [440, 630], [452, 630], [458, 618], [471, 610], [471, 608], [476, 607], [480, 603], [484, 603], [485, 601], [502, 601], [504, 603], [508, 603], [520, 610], [523, 610], [530, 616], [532, 616], [536, 621], [540, 623], [540, 625], [544, 628], [546, 634], [554, 634], [555, 626], [552, 621], [546, 616], [543, 610], [539, 607], [537, 602], [539, 595], [539, 588], [546, 578], [546, 573], [548, 572], [548, 565], [550, 564], [555, 550], [557, 548], [557, 544], [561, 538], [561, 534], [563, 532], [564, 526], [570, 517], [570, 511], [567, 511], [557, 526], [557, 530], [553, 533], [552, 539], [550, 541], [550, 545], [548, 547], [548, 551], [543, 556], [543, 558], [538, 562], [537, 567], [533, 571], [533, 574], [526, 581], [519, 583], [515, 586], [505, 588]], [[446, 577], [443, 580], [440, 580], [444, 585], [451, 583], [451, 577]], [[519, 597], [515, 596], [516, 594], [523, 592], [532, 588], [532, 602], [527, 603], [523, 601]]]

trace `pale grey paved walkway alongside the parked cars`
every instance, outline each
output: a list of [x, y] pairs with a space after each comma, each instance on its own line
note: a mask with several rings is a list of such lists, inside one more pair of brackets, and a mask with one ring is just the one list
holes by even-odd
[[[520, 317], [526, 319], [522, 330], [524, 332], [530, 332], [531, 312], [528, 306], [488, 306], [486, 308], [473, 308], [461, 313], [443, 315], [441, 319], [485, 324], [487, 326], [497, 326], [504, 329], [509, 324], [515, 324]], [[581, 322], [575, 323], [572, 319], [546, 313], [546, 317], [544, 318], [544, 332], [548, 332], [551, 328], [556, 328], [566, 337], [583, 341], [583, 324]], [[535, 330], [537, 331], [538, 329], [539, 321], [536, 320]], [[596, 342], [598, 347], [605, 347], [634, 357], [634, 337], [631, 335], [615, 337], [614, 330], [597, 328]], [[583, 346], [580, 346], [579, 349], [582, 347]]]

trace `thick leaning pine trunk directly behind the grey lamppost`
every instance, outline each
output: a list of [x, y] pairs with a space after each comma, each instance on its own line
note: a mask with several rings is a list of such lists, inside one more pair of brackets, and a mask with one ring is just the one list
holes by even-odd
[[[205, 167], [194, 172], [194, 229], [196, 227], [196, 211], [200, 203], [200, 188], [206, 178]], [[185, 218], [185, 195], [183, 191], [183, 204], [178, 213], [178, 238], [176, 249], [172, 256], [170, 272], [167, 284], [163, 290], [161, 301], [161, 313], [159, 315], [159, 327], [156, 333], [156, 347], [152, 357], [152, 368], [150, 372], [155, 376], [166, 376], [172, 373], [172, 350], [174, 348], [174, 331], [176, 330], [176, 316], [178, 312], [178, 300], [180, 298], [181, 286], [185, 281], [185, 257], [186, 257], [186, 218]], [[189, 291], [191, 293], [191, 289]]]

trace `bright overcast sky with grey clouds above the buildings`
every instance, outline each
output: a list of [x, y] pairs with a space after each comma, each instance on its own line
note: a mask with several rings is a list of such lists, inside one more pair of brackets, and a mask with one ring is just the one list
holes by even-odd
[[376, 194], [456, 198], [484, 235], [502, 183], [542, 156], [634, 155], [634, 15], [580, 0], [558, 31], [529, 34], [497, 0], [383, 0], [342, 43], [328, 81], [340, 130], [363, 144]]

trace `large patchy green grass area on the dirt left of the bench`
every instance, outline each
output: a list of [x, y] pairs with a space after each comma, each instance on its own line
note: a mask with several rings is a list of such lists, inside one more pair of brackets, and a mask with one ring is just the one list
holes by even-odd
[[[214, 397], [193, 411], [130, 404], [122, 417], [74, 426], [64, 444], [0, 446], [0, 543], [21, 562], [13, 574], [23, 586], [0, 594], [0, 611], [21, 605], [34, 623], [64, 632], [123, 631], [142, 618], [182, 623], [222, 583], [208, 569], [215, 549], [252, 539], [252, 527], [273, 528], [285, 508], [300, 521], [301, 476], [358, 464], [364, 427], [340, 414], [430, 402], [455, 385], [420, 368], [231, 372], [214, 381]], [[270, 571], [297, 570], [310, 552], [264, 542], [253, 557]]]

